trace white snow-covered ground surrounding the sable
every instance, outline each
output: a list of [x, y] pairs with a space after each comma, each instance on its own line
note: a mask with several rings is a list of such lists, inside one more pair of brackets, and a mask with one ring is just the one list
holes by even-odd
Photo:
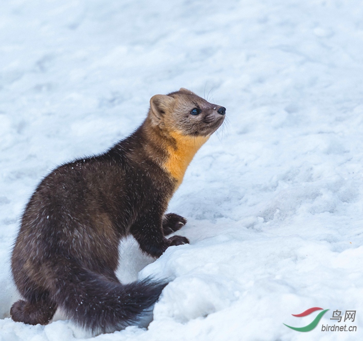
[[[174, 280], [147, 330], [95, 339], [362, 339], [360, 0], [2, 0], [0, 340], [91, 338], [61, 314], [47, 326], [9, 318], [23, 208], [50, 169], [126, 137], [153, 94], [180, 87], [229, 121], [170, 203], [191, 244], [155, 261], [120, 245], [122, 280]], [[291, 314], [311, 307], [330, 309], [316, 329], [283, 325], [308, 325], [318, 312]], [[334, 324], [357, 331], [321, 331]]]

